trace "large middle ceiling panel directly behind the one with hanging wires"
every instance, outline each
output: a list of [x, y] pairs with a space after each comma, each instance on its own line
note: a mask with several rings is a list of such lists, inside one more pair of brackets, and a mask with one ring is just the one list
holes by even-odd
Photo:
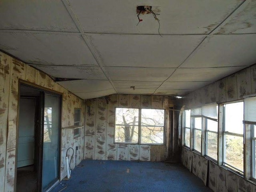
[[104, 66], [178, 67], [198, 46], [203, 35], [91, 34]]

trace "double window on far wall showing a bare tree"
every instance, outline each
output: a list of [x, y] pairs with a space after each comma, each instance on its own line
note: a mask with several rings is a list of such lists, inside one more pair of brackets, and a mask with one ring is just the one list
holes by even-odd
[[116, 108], [115, 142], [164, 144], [164, 110]]

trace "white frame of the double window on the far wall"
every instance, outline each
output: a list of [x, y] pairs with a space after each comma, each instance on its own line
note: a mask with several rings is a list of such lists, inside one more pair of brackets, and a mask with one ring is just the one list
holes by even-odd
[[[116, 124], [116, 108], [124, 108], [124, 109], [138, 109], [138, 142], [116, 142], [116, 125], [124, 125], [124, 124]], [[134, 144], [134, 145], [164, 145], [165, 144], [165, 131], [166, 131], [166, 109], [152, 109], [152, 110], [164, 110], [164, 126], [163, 127], [163, 143], [142, 143], [141, 142], [141, 110], [142, 109], [152, 109], [152, 108], [128, 108], [128, 107], [115, 107], [115, 113], [114, 113], [114, 144]]]

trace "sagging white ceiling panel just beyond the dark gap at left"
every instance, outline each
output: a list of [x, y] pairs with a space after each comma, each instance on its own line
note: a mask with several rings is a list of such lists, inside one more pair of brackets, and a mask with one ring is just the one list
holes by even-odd
[[113, 86], [108, 80], [72, 80], [72, 81], [60, 81], [61, 86], [73, 93], [80, 92], [95, 92], [112, 89]]

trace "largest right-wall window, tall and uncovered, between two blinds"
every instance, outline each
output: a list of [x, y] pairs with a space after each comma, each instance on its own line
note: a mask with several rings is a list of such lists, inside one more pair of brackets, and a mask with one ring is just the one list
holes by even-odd
[[223, 164], [243, 172], [244, 170], [244, 104], [224, 104], [224, 154]]

